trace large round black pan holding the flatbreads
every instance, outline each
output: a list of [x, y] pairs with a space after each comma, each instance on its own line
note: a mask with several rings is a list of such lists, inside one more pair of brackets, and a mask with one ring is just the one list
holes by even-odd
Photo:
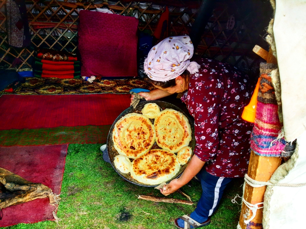
[[[140, 102], [136, 108], [133, 108], [133, 107], [129, 107], [127, 108], [125, 111], [123, 111], [119, 116], [118, 118], [115, 120], [115, 122], [113, 123], [113, 125], [111, 126], [110, 128], [110, 132], [108, 133], [108, 136], [107, 136], [107, 142], [106, 142], [106, 150], [103, 152], [103, 159], [106, 161], [106, 162], [109, 162], [112, 167], [114, 168], [114, 170], [124, 179], [124, 180], [127, 180], [129, 182], [131, 182], [132, 184], [136, 184], [136, 185], [139, 185], [139, 186], [144, 186], [144, 187], [155, 187], [156, 185], [147, 185], [147, 184], [143, 184], [143, 183], [140, 183], [138, 182], [137, 180], [134, 180], [131, 175], [128, 173], [121, 173], [117, 168], [116, 166], [114, 165], [114, 158], [116, 155], [118, 155], [118, 152], [117, 150], [114, 148], [114, 144], [113, 144], [113, 140], [112, 140], [112, 134], [113, 134], [113, 129], [114, 129], [114, 125], [116, 124], [116, 122], [122, 118], [123, 116], [129, 114], [129, 113], [139, 113], [139, 114], [142, 114], [141, 113], [141, 110], [142, 108], [144, 108], [144, 105], [147, 104], [147, 103], [156, 103], [160, 110], [165, 110], [167, 108], [169, 109], [174, 109], [176, 111], [179, 111], [181, 112], [182, 114], [184, 114], [187, 118], [188, 118], [188, 121], [189, 121], [189, 124], [190, 124], [190, 127], [191, 127], [191, 131], [192, 131], [192, 140], [190, 141], [189, 143], [189, 147], [192, 148], [192, 152], [194, 150], [194, 147], [196, 145], [196, 140], [195, 140], [195, 136], [194, 136], [194, 124], [193, 124], [193, 121], [184, 113], [184, 111], [182, 111], [180, 108], [178, 108], [177, 106], [173, 105], [173, 104], [170, 104], [170, 103], [167, 103], [167, 102], [163, 102], [163, 101], [144, 101], [144, 102]], [[150, 119], [152, 123], [154, 123], [154, 119]], [[155, 145], [152, 147], [152, 148], [159, 148], [156, 143]], [[190, 160], [190, 159], [189, 159]], [[187, 163], [188, 164], [188, 163]], [[181, 176], [181, 174], [184, 172], [187, 164], [181, 166], [181, 169], [180, 171], [173, 177], [171, 178], [170, 180], [172, 179], [175, 179], [179, 176]], [[167, 181], [170, 182], [170, 180]]]

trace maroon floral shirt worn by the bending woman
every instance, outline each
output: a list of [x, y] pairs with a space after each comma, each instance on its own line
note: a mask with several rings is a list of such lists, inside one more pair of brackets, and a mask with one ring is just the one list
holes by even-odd
[[230, 64], [204, 58], [196, 62], [199, 72], [191, 75], [181, 98], [194, 117], [194, 153], [211, 175], [242, 177], [248, 169], [253, 124], [241, 114], [255, 87]]

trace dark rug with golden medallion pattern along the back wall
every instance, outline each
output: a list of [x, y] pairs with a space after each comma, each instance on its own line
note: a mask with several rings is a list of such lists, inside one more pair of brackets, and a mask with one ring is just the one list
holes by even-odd
[[88, 83], [83, 79], [35, 78], [26, 77], [13, 93], [18, 95], [56, 95], [56, 94], [126, 94], [131, 89], [153, 90], [154, 86], [142, 79], [104, 79]]

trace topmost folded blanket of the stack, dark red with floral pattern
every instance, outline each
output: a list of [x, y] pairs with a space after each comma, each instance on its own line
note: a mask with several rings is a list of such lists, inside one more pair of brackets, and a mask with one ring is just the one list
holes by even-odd
[[75, 53], [56, 51], [53, 49], [38, 49], [37, 57], [39, 59], [52, 61], [77, 61]]

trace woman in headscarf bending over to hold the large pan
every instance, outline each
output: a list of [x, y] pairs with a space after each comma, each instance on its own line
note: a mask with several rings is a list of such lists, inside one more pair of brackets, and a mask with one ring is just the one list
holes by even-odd
[[241, 119], [252, 94], [250, 79], [215, 60], [190, 62], [192, 55], [188, 36], [166, 38], [155, 45], [144, 70], [157, 89], [139, 93], [146, 100], [156, 100], [185, 92], [181, 100], [194, 117], [194, 155], [182, 176], [160, 189], [169, 195], [194, 176], [201, 181], [203, 192], [195, 211], [174, 220], [177, 228], [208, 225], [224, 188], [234, 177], [244, 176], [250, 158], [252, 126]]

